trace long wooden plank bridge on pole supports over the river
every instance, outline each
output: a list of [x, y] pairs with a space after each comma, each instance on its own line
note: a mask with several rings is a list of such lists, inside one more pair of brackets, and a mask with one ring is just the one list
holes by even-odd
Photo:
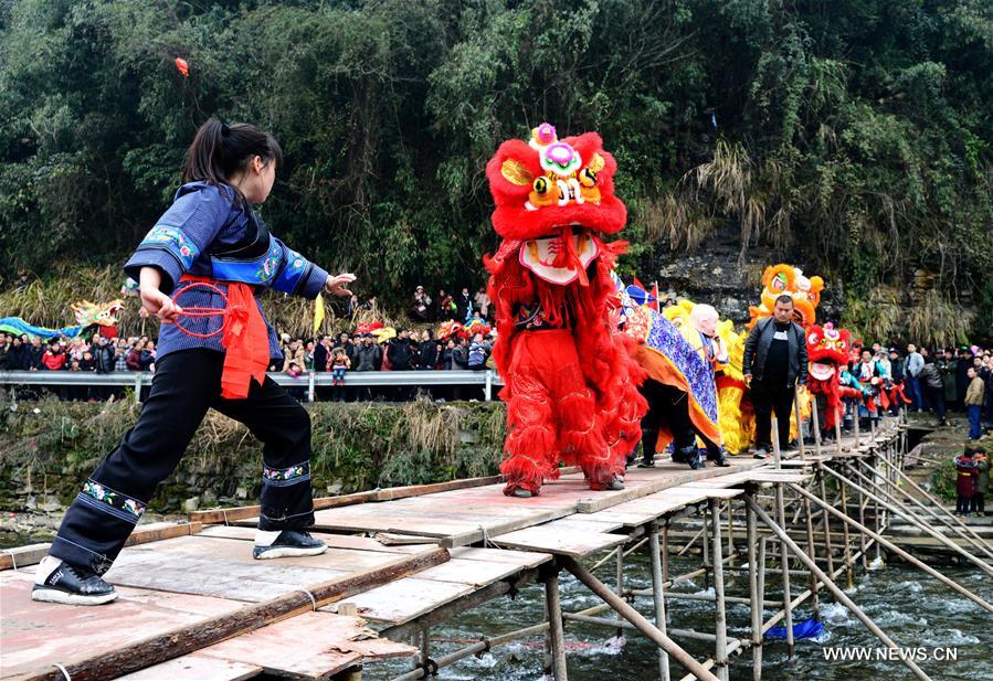
[[[827, 575], [813, 578], [811, 588], [794, 600], [789, 573], [795, 571], [790, 570], [788, 538], [778, 538], [771, 519], [760, 535], [754, 500], [761, 501], [762, 490], [767, 497], [774, 492], [778, 509], [770, 512], [779, 525], [790, 525], [784, 490], [813, 490], [826, 500], [824, 471], [839, 462], [884, 458], [896, 462], [898, 470], [902, 438], [894, 421], [859, 440], [818, 445], [793, 459], [731, 457], [728, 468], [698, 471], [661, 459], [653, 469], [630, 470], [626, 489], [621, 491], [592, 492], [580, 472], [567, 470], [532, 499], [505, 497], [501, 482], [493, 478], [318, 499], [315, 534], [329, 549], [304, 558], [252, 560], [256, 507], [198, 512], [189, 523], [139, 526], [106, 575], [120, 597], [102, 607], [32, 602], [34, 565], [47, 546], [10, 550], [0, 555], [0, 678], [232, 681], [275, 674], [355, 680], [370, 661], [391, 657], [413, 662], [400, 679], [424, 678], [432, 664], [436, 669], [474, 649], [483, 650], [469, 646], [448, 659], [433, 660], [430, 627], [529, 582], [545, 583], [549, 617], [518, 634], [548, 636], [552, 671], [559, 679], [566, 678], [561, 632], [567, 620], [638, 629], [658, 643], [664, 679], [668, 679], [670, 660], [697, 678], [726, 679], [728, 657], [748, 648], [757, 652], [760, 671], [761, 632], [779, 619], [791, 621], [791, 607], [804, 598], [816, 603], [818, 589], [830, 588], [833, 578], [864, 561], [874, 542], [867, 543], [858, 532], [849, 538], [847, 525], [843, 541], [841, 524], [832, 526], [827, 513], [822, 513], [825, 524], [820, 536], [822, 544], [826, 540], [826, 549], [818, 553], [811, 539], [807, 554]], [[869, 481], [891, 478], [895, 473], [877, 470]], [[863, 485], [865, 493], [859, 492], [858, 503], [865, 509], [871, 494], [865, 489], [868, 482]], [[842, 494], [844, 489], [843, 485]], [[799, 493], [795, 499], [791, 512], [801, 506]], [[892, 498], [883, 501], [896, 503]], [[747, 525], [752, 566], [748, 597], [756, 606], [759, 599], [765, 603], [767, 596], [765, 556], [760, 556], [761, 570], [756, 570], [754, 552], [761, 544], [764, 553], [767, 540], [770, 557], [771, 547], [780, 546], [784, 593], [775, 599], [782, 606], [777, 617], [763, 623], [761, 607], [753, 607], [753, 619], [759, 619], [752, 634], [729, 639], [721, 586], [715, 596], [716, 634], [666, 634], [666, 600], [677, 597], [670, 587], [686, 578], [668, 574], [669, 521], [687, 514], [703, 518], [701, 567], [690, 574], [705, 573], [716, 584], [731, 568], [732, 558], [744, 557], [742, 547], [733, 543], [736, 510], [747, 519], [738, 533]], [[757, 511], [763, 513], [761, 508]], [[722, 512], [730, 530], [725, 535], [727, 555]], [[811, 532], [812, 518], [807, 503], [805, 522]], [[874, 526], [880, 530], [885, 510], [874, 518]], [[796, 536], [794, 530], [801, 525], [794, 519], [790, 536]], [[620, 583], [616, 589], [602, 592], [604, 585], [581, 566], [604, 554], [615, 555], [621, 574], [623, 557], [646, 543], [653, 552], [654, 587], [634, 595], [654, 599], [654, 625], [628, 611], [633, 609], [614, 595], [621, 590]], [[558, 602], [562, 570], [577, 575], [604, 604], [584, 613], [562, 613]], [[622, 619], [598, 617], [606, 610]], [[714, 641], [715, 655], [703, 662], [690, 658], [674, 642], [680, 636]], [[486, 646], [506, 640], [487, 639]]]

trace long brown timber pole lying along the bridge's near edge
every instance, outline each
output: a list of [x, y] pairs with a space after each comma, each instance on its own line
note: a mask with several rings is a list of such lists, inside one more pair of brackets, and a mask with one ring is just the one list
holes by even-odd
[[[83, 661], [68, 664], [66, 670], [68, 675], [88, 679], [89, 681], [113, 679], [151, 664], [182, 657], [193, 650], [247, 634], [266, 625], [309, 613], [314, 608], [315, 603], [320, 608], [357, 593], [374, 589], [382, 584], [395, 583], [397, 581], [402, 582], [406, 575], [434, 567], [447, 560], [448, 552], [443, 549], [436, 549], [394, 561], [381, 568], [361, 575], [349, 575], [313, 585], [298, 584], [296, 585], [297, 589], [306, 588], [308, 593], [304, 594], [300, 590], [294, 590], [265, 603], [244, 606], [233, 613], [213, 617], [207, 621], [183, 625], [135, 642], [118, 645], [113, 651], [94, 655]], [[429, 579], [424, 579], [424, 582], [439, 585], [447, 584]], [[60, 606], [53, 607], [57, 608]], [[63, 609], [78, 610], [91, 608]], [[102, 613], [101, 616], [106, 618], [107, 614]], [[140, 629], [138, 630], [140, 631]], [[13, 679], [27, 681], [28, 679], [50, 677], [51, 672], [51, 664], [45, 662], [43, 671], [39, 670], [39, 673], [28, 672]]]

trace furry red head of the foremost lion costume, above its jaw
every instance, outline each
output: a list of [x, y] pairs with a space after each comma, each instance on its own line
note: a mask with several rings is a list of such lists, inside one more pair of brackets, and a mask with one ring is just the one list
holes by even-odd
[[545, 123], [530, 141], [505, 141], [486, 164], [493, 226], [507, 240], [552, 236], [567, 226], [615, 234], [627, 210], [614, 195], [614, 157], [595, 132], [558, 139]]

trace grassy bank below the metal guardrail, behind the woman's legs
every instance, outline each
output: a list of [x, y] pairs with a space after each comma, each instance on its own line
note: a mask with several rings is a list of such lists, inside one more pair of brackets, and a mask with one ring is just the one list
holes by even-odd
[[[129, 401], [0, 402], [0, 510], [9, 511], [68, 503], [138, 416]], [[307, 409], [316, 494], [493, 475], [499, 462], [500, 403], [317, 403]], [[211, 412], [150, 510], [177, 512], [193, 498], [200, 506], [255, 499], [261, 450], [244, 426]]]

